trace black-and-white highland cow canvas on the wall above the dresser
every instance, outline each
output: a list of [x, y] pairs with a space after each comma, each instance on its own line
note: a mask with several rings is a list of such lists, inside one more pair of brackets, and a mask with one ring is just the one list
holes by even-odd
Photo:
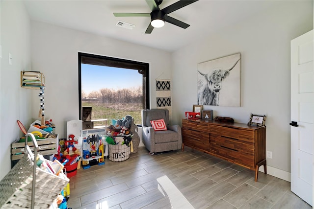
[[197, 65], [198, 105], [240, 106], [241, 54]]

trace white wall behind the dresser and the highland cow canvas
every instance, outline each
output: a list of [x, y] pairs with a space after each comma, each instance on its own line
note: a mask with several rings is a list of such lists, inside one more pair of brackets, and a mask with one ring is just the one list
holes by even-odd
[[267, 165], [288, 175], [290, 40], [312, 28], [313, 1], [282, 1], [266, 13], [177, 50], [172, 54], [173, 119], [181, 123], [184, 112], [197, 104], [197, 64], [240, 52], [241, 107], [204, 108], [241, 123], [247, 123], [251, 113], [267, 114], [266, 150], [273, 157], [266, 159]]

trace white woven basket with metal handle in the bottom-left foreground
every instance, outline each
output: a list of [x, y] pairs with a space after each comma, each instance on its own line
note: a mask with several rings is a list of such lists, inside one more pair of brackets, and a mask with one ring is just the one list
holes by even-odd
[[[26, 136], [31, 136], [26, 134]], [[35, 138], [33, 138], [33, 141]], [[34, 144], [38, 147], [36, 140]], [[36, 147], [35, 146], [35, 147]], [[68, 184], [69, 179], [61, 172], [56, 176], [34, 165], [34, 154], [26, 145], [24, 157], [16, 163], [0, 182], [1, 209], [47, 209]], [[35, 151], [35, 154], [37, 151]], [[33, 174], [35, 183], [33, 184]], [[34, 191], [32, 193], [32, 191]]]

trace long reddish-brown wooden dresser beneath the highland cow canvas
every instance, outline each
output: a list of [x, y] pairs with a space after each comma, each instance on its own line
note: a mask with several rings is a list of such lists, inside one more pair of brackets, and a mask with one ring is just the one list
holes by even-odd
[[182, 119], [183, 147], [189, 146], [231, 163], [266, 172], [266, 128], [244, 123]]

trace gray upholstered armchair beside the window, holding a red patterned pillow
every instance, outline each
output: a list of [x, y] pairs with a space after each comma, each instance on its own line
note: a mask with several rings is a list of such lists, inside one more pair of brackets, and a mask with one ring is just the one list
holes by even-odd
[[[163, 118], [167, 130], [154, 131], [151, 120]], [[142, 141], [151, 154], [182, 148], [182, 133], [179, 125], [169, 125], [169, 110], [142, 110]]]

